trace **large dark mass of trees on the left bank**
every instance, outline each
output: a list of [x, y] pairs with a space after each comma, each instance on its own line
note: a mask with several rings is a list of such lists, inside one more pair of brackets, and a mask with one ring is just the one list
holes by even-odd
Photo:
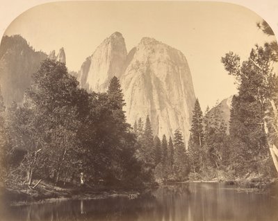
[[[0, 99], [1, 101], [1, 99]], [[148, 182], [136, 157], [138, 142], [126, 123], [120, 82], [107, 93], [79, 88], [65, 64], [45, 60], [33, 75], [22, 107], [8, 108], [6, 121], [13, 175], [56, 184], [85, 179], [92, 185]], [[22, 150], [22, 158], [15, 154]], [[12, 174], [10, 174], [12, 175]]]

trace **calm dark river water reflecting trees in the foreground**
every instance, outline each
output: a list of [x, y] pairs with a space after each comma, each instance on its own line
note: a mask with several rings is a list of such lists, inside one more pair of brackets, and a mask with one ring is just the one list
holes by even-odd
[[278, 198], [270, 193], [239, 193], [224, 184], [176, 184], [129, 200], [67, 200], [0, 208], [0, 220], [229, 220], [278, 221]]

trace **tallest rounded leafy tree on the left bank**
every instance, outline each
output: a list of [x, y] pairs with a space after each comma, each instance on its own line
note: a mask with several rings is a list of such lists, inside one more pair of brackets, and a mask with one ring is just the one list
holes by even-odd
[[[31, 159], [26, 163], [30, 167], [38, 154], [44, 156], [51, 167], [49, 175], [56, 182], [65, 167], [72, 166], [73, 154], [80, 147], [77, 133], [84, 114], [81, 104], [85, 93], [78, 85], [76, 78], [67, 73], [65, 64], [44, 60], [26, 92], [26, 108], [32, 118], [28, 129], [35, 130], [32, 133], [36, 134], [32, 134], [34, 148], [30, 152]], [[33, 169], [30, 168], [29, 184]]]

